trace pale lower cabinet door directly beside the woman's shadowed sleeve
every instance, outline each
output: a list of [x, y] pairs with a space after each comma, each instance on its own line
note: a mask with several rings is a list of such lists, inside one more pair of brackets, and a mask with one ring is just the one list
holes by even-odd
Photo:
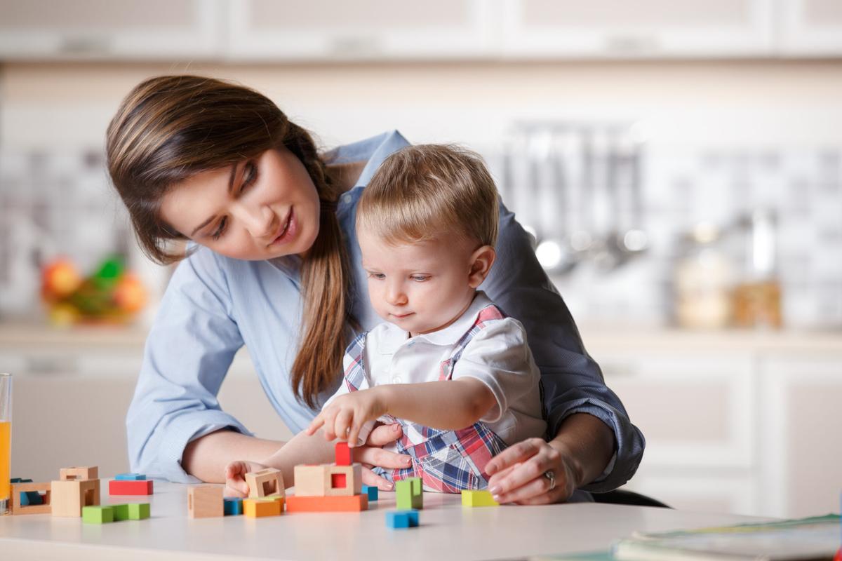
[[605, 383], [646, 437], [653, 467], [754, 465], [754, 372], [750, 355], [600, 356]]

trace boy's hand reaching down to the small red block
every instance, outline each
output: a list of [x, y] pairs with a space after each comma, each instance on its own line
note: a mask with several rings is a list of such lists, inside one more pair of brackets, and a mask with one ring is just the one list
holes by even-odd
[[322, 431], [327, 440], [340, 438], [347, 440], [349, 447], [354, 447], [365, 422], [386, 415], [384, 394], [383, 387], [377, 387], [340, 395], [322, 409], [305, 432], [312, 437], [323, 426]]

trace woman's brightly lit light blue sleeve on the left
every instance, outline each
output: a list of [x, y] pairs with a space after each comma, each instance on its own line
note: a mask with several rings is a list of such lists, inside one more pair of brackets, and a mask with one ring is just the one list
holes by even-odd
[[179, 263], [147, 337], [126, 415], [132, 471], [195, 483], [181, 467], [188, 442], [226, 427], [251, 435], [216, 400], [240, 347], [224, 271], [201, 248]]

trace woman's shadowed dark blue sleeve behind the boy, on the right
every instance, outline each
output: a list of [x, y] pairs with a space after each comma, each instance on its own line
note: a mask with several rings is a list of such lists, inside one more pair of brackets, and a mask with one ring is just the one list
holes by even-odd
[[497, 261], [482, 284], [489, 298], [524, 325], [544, 387], [547, 431], [554, 437], [573, 413], [589, 413], [610, 428], [616, 457], [606, 473], [584, 490], [604, 492], [632, 479], [645, 441], [617, 395], [605, 386], [600, 367], [584, 349], [562, 297], [532, 251], [530, 237], [500, 205]]

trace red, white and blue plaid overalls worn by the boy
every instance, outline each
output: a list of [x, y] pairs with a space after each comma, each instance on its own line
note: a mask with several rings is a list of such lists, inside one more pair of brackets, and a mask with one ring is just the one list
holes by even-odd
[[[441, 363], [439, 379], [449, 380], [453, 376], [453, 368], [465, 347], [488, 321], [503, 318], [502, 312], [494, 305], [480, 310], [474, 325], [457, 341], [453, 354]], [[345, 384], [352, 392], [369, 387], [368, 379], [365, 378], [364, 350], [365, 333], [362, 333], [351, 341], [345, 351], [352, 359], [344, 373]], [[419, 477], [426, 488], [443, 493], [488, 487], [485, 466], [491, 458], [503, 451], [506, 443], [485, 423], [477, 422], [460, 431], [440, 431], [391, 418], [403, 429], [403, 437], [397, 441], [397, 452], [411, 456], [413, 465], [411, 468], [391, 471], [376, 468], [376, 473], [391, 481]]]

